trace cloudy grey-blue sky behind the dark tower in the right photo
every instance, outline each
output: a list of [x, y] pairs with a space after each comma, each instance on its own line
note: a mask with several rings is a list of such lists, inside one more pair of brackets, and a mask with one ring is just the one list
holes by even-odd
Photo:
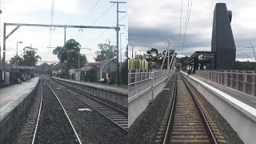
[[[256, 1], [250, 0], [130, 0], [129, 1], [129, 56], [131, 46], [134, 54], [146, 53], [151, 48], [162, 52], [168, 46], [170, 37], [174, 44], [170, 48], [178, 51], [179, 56], [190, 56], [194, 51], [210, 51], [214, 7], [218, 2], [226, 3], [227, 10], [232, 10], [231, 28], [237, 48], [239, 61], [252, 60], [253, 50], [250, 41], [256, 46]], [[192, 2], [190, 19], [184, 40], [188, 2]], [[180, 15], [182, 7], [182, 24]], [[180, 35], [181, 26], [181, 37]], [[179, 41], [180, 39], [180, 41]], [[254, 48], [255, 49], [255, 48]], [[255, 49], [256, 50], [256, 49]]]

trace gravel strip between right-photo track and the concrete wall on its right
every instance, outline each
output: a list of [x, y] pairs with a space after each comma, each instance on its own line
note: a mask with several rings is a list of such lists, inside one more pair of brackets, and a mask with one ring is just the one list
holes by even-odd
[[204, 98], [202, 94], [200, 94], [198, 90], [195, 89], [194, 86], [192, 85], [190, 86], [194, 90], [194, 93], [197, 94], [202, 104], [205, 106], [210, 117], [213, 118], [215, 124], [218, 126], [218, 130], [220, 130], [226, 142], [242, 144], [243, 142], [241, 138], [239, 138], [237, 132], [235, 132], [233, 128], [230, 126], [230, 124], [226, 122], [226, 119], [223, 118], [222, 115], [218, 113], [218, 110], [216, 110], [214, 106], [212, 106], [210, 102], [208, 102], [206, 98]]

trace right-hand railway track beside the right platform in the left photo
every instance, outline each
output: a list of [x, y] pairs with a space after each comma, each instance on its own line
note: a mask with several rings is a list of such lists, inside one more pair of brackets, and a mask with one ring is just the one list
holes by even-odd
[[110, 122], [113, 122], [115, 125], [120, 127], [122, 130], [125, 130], [128, 133], [128, 113], [124, 110], [121, 110], [115, 106], [111, 106], [106, 102], [102, 102], [101, 100], [90, 96], [80, 90], [75, 90], [70, 86], [63, 85], [60, 82], [52, 81], [48, 79], [55, 85], [60, 85], [67, 87], [70, 90], [75, 91], [78, 94], [73, 94], [72, 92], [68, 92], [70, 95], [78, 98], [79, 101], [85, 103], [86, 105], [90, 106], [93, 110], [96, 110], [99, 114], [102, 114], [105, 118], [109, 119]]

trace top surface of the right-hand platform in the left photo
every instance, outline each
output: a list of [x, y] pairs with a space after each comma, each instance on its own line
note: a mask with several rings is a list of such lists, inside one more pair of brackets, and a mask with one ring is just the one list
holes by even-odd
[[70, 81], [70, 82], [77, 82], [79, 84], [86, 85], [86, 86], [101, 87], [102, 89], [114, 90], [114, 91], [122, 92], [122, 93], [125, 93], [128, 95], [128, 86], [115, 86], [115, 85], [110, 85], [110, 84], [101, 83], [101, 82], [76, 81], [76, 80], [72, 80], [72, 79], [64, 79], [64, 78], [58, 78], [58, 77], [52, 77], [52, 78]]

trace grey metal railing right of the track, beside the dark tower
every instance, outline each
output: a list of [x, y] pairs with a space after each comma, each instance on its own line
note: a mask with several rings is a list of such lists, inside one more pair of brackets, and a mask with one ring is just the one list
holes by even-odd
[[197, 70], [195, 75], [247, 94], [256, 95], [256, 71]]

